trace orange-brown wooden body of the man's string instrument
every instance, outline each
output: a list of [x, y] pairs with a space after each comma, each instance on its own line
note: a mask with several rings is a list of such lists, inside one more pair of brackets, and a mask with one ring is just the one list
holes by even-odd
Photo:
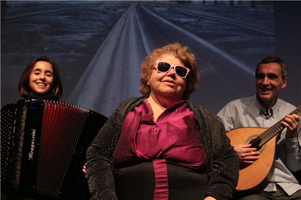
[[[248, 144], [267, 128], [242, 127], [227, 132], [231, 145]], [[268, 183], [274, 172], [274, 156], [276, 137], [267, 141], [260, 149], [259, 159], [253, 164], [240, 166], [239, 179], [236, 190], [254, 192], [262, 190]]]

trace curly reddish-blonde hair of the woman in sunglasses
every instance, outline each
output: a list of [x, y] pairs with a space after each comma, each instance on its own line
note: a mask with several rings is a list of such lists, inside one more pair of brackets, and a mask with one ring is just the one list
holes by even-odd
[[141, 64], [140, 92], [143, 95], [150, 94], [150, 87], [147, 85], [147, 81], [152, 74], [155, 62], [164, 55], [173, 55], [174, 57], [179, 58], [184, 66], [190, 69], [186, 77], [186, 88], [182, 96], [182, 99], [188, 99], [190, 94], [194, 92], [198, 86], [198, 64], [195, 55], [191, 52], [190, 47], [182, 46], [177, 42], [161, 48], [156, 48], [143, 60]]

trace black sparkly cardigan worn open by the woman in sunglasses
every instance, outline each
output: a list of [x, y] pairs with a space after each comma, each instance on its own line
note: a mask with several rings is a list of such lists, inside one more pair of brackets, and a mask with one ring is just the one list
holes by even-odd
[[[92, 199], [117, 199], [113, 177], [113, 153], [122, 122], [129, 111], [146, 98], [123, 101], [111, 114], [87, 150], [87, 177]], [[239, 157], [226, 136], [223, 124], [202, 106], [187, 101], [197, 116], [208, 154], [206, 196], [231, 199], [238, 182]]]

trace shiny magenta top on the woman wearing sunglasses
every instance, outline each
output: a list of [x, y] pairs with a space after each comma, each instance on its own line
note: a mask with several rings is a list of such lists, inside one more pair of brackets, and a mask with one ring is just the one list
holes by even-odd
[[113, 160], [115, 167], [152, 160], [155, 168], [154, 199], [168, 199], [165, 160], [204, 170], [208, 159], [197, 117], [185, 100], [167, 108], [156, 121], [153, 109], [144, 99], [125, 117]]

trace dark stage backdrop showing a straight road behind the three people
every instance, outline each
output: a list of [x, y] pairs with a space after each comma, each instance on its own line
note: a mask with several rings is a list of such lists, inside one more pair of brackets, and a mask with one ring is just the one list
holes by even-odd
[[301, 1], [1, 1], [1, 107], [21, 99], [21, 73], [39, 55], [59, 66], [61, 101], [109, 116], [140, 96], [140, 64], [154, 48], [188, 45], [199, 87], [191, 100], [216, 114], [255, 93], [265, 56], [289, 66], [280, 98], [301, 103]]

